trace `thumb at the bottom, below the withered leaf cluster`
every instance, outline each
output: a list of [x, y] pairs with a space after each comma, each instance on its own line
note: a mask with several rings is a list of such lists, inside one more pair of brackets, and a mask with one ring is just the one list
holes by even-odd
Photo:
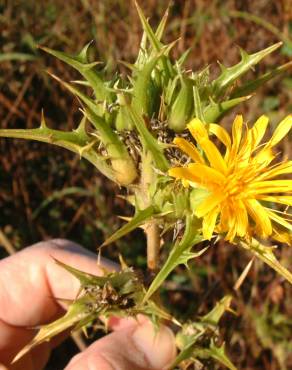
[[73, 357], [65, 370], [162, 370], [176, 354], [174, 335], [166, 326], [133, 324], [96, 341]]

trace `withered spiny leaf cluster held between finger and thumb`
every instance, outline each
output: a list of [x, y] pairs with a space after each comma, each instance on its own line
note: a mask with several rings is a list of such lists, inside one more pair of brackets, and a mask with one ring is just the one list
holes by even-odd
[[79, 280], [80, 292], [74, 301], [64, 302], [69, 304], [67, 313], [60, 319], [42, 326], [33, 340], [17, 354], [14, 362], [35, 346], [49, 341], [66, 329], [86, 329], [88, 324], [98, 320], [100, 316], [136, 316], [143, 313], [151, 319], [172, 319], [154, 302], [147, 301], [142, 304], [143, 284], [130, 268], [125, 267], [119, 272], [110, 272], [99, 277], [57, 260], [56, 263]]

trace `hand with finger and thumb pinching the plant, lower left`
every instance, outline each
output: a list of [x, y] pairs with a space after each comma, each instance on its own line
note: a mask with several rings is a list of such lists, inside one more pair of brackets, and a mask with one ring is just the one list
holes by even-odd
[[[102, 275], [96, 256], [67, 240], [41, 242], [0, 261], [0, 370], [43, 369], [52, 348], [64, 334], [43, 343], [10, 365], [17, 352], [35, 335], [32, 329], [64, 314], [58, 298], [74, 299], [78, 280], [53, 258], [83, 271]], [[116, 265], [102, 260], [107, 269]], [[175, 357], [172, 332], [161, 326], [154, 332], [144, 317], [110, 319], [113, 332], [74, 356], [65, 370], [167, 369]]]

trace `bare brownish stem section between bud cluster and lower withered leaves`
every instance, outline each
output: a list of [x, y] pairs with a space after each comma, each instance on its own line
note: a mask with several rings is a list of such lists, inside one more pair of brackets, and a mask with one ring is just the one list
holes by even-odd
[[160, 249], [159, 226], [157, 222], [149, 221], [145, 227], [147, 239], [147, 266], [149, 270], [156, 270]]

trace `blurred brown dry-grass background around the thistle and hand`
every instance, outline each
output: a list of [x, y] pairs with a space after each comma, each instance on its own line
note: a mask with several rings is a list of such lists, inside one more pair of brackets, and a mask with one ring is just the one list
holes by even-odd
[[[139, 3], [155, 26], [169, 1]], [[46, 70], [65, 81], [78, 79], [77, 72], [37, 45], [77, 53], [94, 40], [92, 58], [104, 62], [111, 75], [116, 70], [126, 73], [119, 61], [135, 60], [142, 34], [133, 2], [123, 0], [0, 0], [0, 29], [1, 128], [37, 127], [42, 109], [52, 128], [71, 130], [78, 123], [77, 100]], [[188, 68], [211, 65], [214, 75], [218, 60], [227, 66], [239, 61], [238, 46], [251, 53], [283, 41], [280, 51], [265, 58], [249, 76], [254, 77], [291, 60], [292, 1], [172, 1], [164, 40], [178, 38], [173, 56], [191, 48]], [[273, 127], [292, 111], [291, 73], [272, 80], [238, 111], [250, 121], [267, 113]], [[280, 149], [289, 155], [290, 146], [287, 138]], [[72, 239], [95, 251], [121, 224], [117, 215], [131, 214], [115, 197], [118, 192], [90, 164], [61, 148], [1, 139], [1, 258], [54, 237]], [[117, 259], [121, 252], [129, 264], [145, 268], [144, 247], [143, 234], [137, 231], [105, 254]], [[283, 246], [277, 256], [291, 267], [291, 248]], [[207, 312], [230, 291], [250, 258], [219, 243], [188, 271], [177, 269], [163, 289], [169, 309], [181, 318]], [[225, 315], [222, 322], [227, 351], [239, 369], [292, 369], [291, 293], [281, 277], [254, 263], [238, 293], [238, 316]], [[77, 351], [68, 339], [55, 350], [47, 369], [62, 369]]]

